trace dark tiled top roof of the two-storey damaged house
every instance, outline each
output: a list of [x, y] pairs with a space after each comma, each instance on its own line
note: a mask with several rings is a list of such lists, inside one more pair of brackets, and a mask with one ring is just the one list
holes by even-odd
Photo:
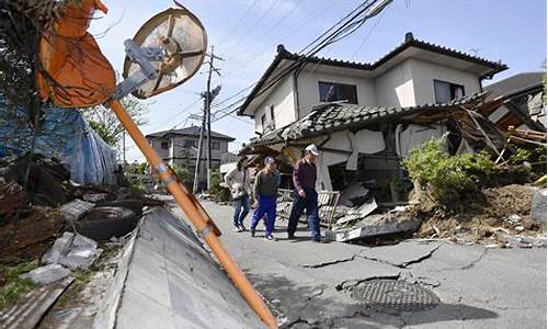
[[277, 46], [277, 54], [276, 57], [274, 57], [274, 60], [271, 63], [266, 71], [262, 75], [261, 79], [256, 82], [254, 86], [253, 90], [251, 93], [248, 95], [243, 104], [240, 106], [238, 110], [238, 114], [242, 115], [246, 109], [249, 106], [249, 104], [255, 99], [256, 94], [259, 91], [263, 88], [263, 86], [267, 82], [269, 78], [271, 75], [274, 72], [274, 70], [278, 67], [278, 65], [282, 63], [282, 60], [299, 60], [304, 59], [306, 64], [321, 64], [321, 65], [327, 65], [327, 66], [334, 66], [334, 67], [344, 67], [344, 68], [354, 68], [354, 69], [363, 69], [363, 70], [375, 70], [381, 65], [386, 64], [388, 60], [391, 58], [396, 57], [398, 54], [402, 53], [403, 50], [410, 48], [410, 47], [415, 47], [429, 52], [434, 52], [437, 54], [455, 57], [458, 59], [467, 60], [473, 64], [482, 65], [491, 70], [489, 70], [487, 73], [482, 75], [481, 78], [487, 78], [487, 77], [492, 77], [493, 75], [503, 71], [507, 69], [507, 66], [502, 64], [501, 61], [492, 61], [488, 60], [486, 58], [481, 58], [478, 56], [473, 56], [470, 54], [466, 54], [456, 49], [452, 49], [448, 47], [444, 47], [441, 45], [427, 43], [424, 41], [420, 41], [413, 37], [412, 33], [407, 33], [406, 34], [406, 39], [403, 43], [401, 43], [399, 46], [387, 53], [385, 56], [383, 56], [380, 59], [378, 59], [375, 63], [368, 64], [368, 63], [356, 63], [356, 61], [345, 61], [345, 60], [338, 60], [338, 59], [332, 59], [332, 58], [324, 58], [324, 57], [305, 57], [302, 55], [294, 54], [285, 49], [284, 45], [278, 45]]

